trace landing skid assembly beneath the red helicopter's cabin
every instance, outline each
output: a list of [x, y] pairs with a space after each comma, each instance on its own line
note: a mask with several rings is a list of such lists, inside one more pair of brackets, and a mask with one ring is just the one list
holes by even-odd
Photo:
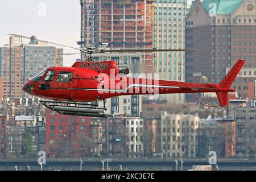
[[81, 102], [57, 102], [57, 101], [40, 101], [48, 109], [64, 115], [77, 115], [85, 117], [113, 118], [113, 114], [105, 114], [104, 108], [98, 108], [98, 105], [85, 104]]

